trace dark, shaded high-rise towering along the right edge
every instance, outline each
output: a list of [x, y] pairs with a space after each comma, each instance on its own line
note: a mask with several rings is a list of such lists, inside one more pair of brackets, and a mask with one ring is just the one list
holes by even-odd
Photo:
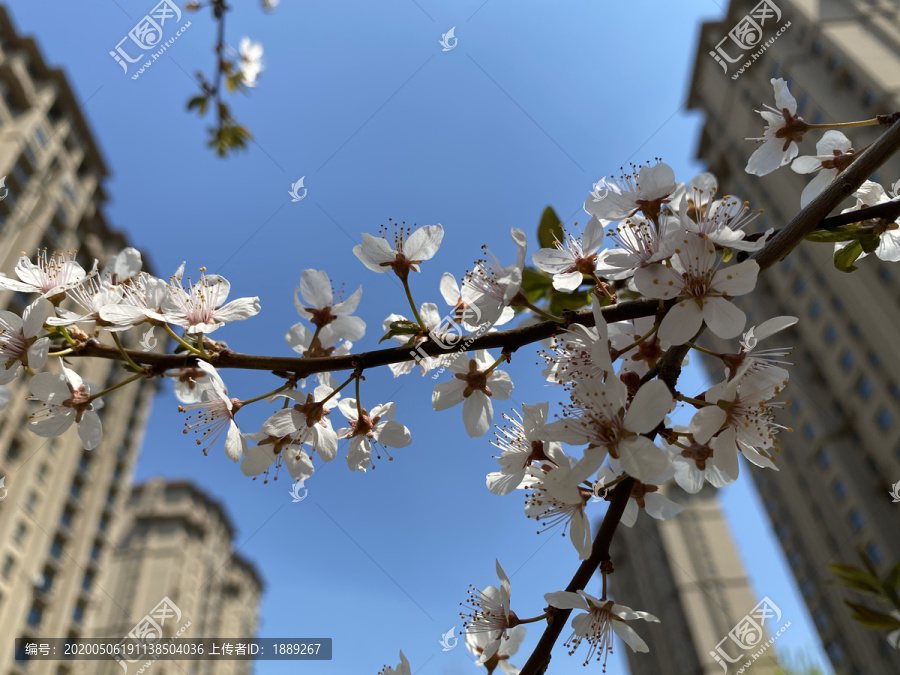
[[[742, 139], [760, 135], [764, 122], [753, 108], [774, 104], [770, 80], [788, 82], [798, 114], [812, 123], [900, 110], [900, 8], [884, 0], [775, 0], [766, 11], [760, 4], [734, 0], [721, 21], [703, 25], [688, 107], [705, 114], [698, 156], [718, 177], [719, 194], [764, 209], [762, 229], [781, 227], [799, 211], [811, 178], [788, 167], [763, 178], [744, 171], [754, 144]], [[742, 51], [739, 39], [755, 40], [753, 30], [747, 38], [748, 15], [763, 38]], [[861, 150], [878, 132], [846, 133]], [[809, 133], [800, 153], [815, 154], [820, 136]], [[887, 186], [898, 178], [900, 157], [876, 176]], [[865, 598], [833, 583], [827, 565], [859, 564], [857, 548], [882, 574], [900, 561], [900, 508], [888, 494], [900, 480], [900, 268], [870, 255], [858, 271], [843, 274], [834, 269], [832, 252], [830, 244], [805, 242], [760, 276], [755, 293], [738, 299], [748, 326], [779, 314], [800, 318], [766, 345], [795, 346], [786, 392], [793, 405], [780, 420], [793, 433], [782, 434], [781, 470], [748, 473], [835, 671], [898, 673], [900, 652], [856, 623], [844, 604]], [[735, 351], [734, 341], [704, 340]]]

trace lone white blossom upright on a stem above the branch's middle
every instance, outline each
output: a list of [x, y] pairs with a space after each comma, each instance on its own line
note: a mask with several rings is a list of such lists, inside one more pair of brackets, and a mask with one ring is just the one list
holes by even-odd
[[363, 232], [363, 243], [353, 247], [353, 254], [373, 272], [393, 270], [405, 281], [410, 270], [418, 272], [423, 261], [434, 257], [443, 238], [444, 228], [440, 224], [413, 230], [406, 223], [397, 225], [390, 221], [388, 228], [382, 228], [380, 237]]

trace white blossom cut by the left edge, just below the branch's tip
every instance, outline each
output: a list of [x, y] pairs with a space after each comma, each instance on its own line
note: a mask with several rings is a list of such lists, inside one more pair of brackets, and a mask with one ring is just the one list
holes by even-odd
[[49, 303], [43, 298], [32, 302], [20, 317], [0, 311], [0, 384], [9, 384], [23, 366], [32, 370], [44, 367], [50, 351], [50, 338], [37, 336], [44, 328]]

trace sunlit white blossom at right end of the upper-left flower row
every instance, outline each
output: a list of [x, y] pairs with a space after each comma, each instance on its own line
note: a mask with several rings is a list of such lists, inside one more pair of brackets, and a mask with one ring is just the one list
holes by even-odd
[[[201, 272], [203, 270], [201, 269]], [[259, 313], [259, 298], [238, 298], [225, 304], [231, 284], [218, 274], [202, 274], [196, 284], [182, 286], [184, 263], [172, 276], [171, 294], [164, 303], [168, 323], [188, 333], [212, 333], [228, 321], [243, 321]]]

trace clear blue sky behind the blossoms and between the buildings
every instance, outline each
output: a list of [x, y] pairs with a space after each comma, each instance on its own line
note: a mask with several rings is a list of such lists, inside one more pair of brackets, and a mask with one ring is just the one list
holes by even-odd
[[[684, 103], [699, 23], [723, 12], [711, 0], [677, 10], [649, 0], [552, 9], [523, 0], [283, 0], [272, 15], [234, 3], [227, 40], [262, 41], [266, 70], [249, 96], [233, 97], [255, 141], [227, 161], [204, 147], [205, 122], [185, 112], [196, 93], [190, 74], [213, 63], [205, 14], [192, 15], [136, 81], [108, 55], [154, 4], [30, 0], [12, 15], [48, 62], [65, 68], [83, 102], [113, 171], [110, 221], [161, 276], [186, 260], [195, 274], [206, 266], [225, 275], [234, 297], [260, 297], [259, 316], [215, 336], [239, 351], [290, 354], [292, 292], [307, 267], [327, 270], [347, 293], [363, 285], [358, 314], [369, 330], [358, 346], [374, 348], [383, 317], [408, 308], [399, 286], [366, 270], [351, 248], [388, 218], [443, 224], [444, 244], [413, 286], [417, 302], [443, 306], [444, 271], [461, 276], [482, 244], [511, 260], [510, 227], [524, 228], [534, 250], [547, 205], [569, 224], [584, 222], [581, 204], [601, 176], [654, 157], [681, 180], [703, 169], [694, 160], [701, 119]], [[459, 42], [442, 52], [441, 34], [453, 26]], [[307, 197], [291, 203], [301, 176]], [[534, 361], [521, 350], [509, 367], [515, 405], [559, 396], [544, 388]], [[275, 386], [259, 374], [225, 377], [243, 398]], [[401, 648], [423, 675], [474, 672], [462, 645], [442, 652], [438, 644], [449, 628], [460, 630], [468, 584], [496, 583], [497, 557], [512, 576], [514, 608], [534, 616], [577, 564], [566, 539], [535, 534], [519, 496], [488, 493], [484, 475], [495, 465], [487, 437], [469, 439], [459, 409], [433, 412], [433, 384], [367, 374], [364, 400], [396, 401], [413, 445], [366, 475], [349, 472], [342, 453], [307, 481], [309, 496], [297, 504], [288, 480], [252, 482], [220, 448], [204, 457], [182, 436], [170, 391], [156, 402], [137, 479], [189, 477], [226, 506], [241, 553], [267, 582], [258, 634], [334, 638], [334, 661], [304, 672], [375, 673], [396, 664]], [[266, 416], [256, 408], [240, 415], [248, 429]], [[818, 650], [746, 472], [723, 503], [756, 594], [776, 599], [792, 621], [778, 647]], [[611, 674], [627, 672], [622, 648]], [[577, 656], [556, 654], [555, 673], [582, 672]], [[263, 662], [256, 672], [294, 669]]]

